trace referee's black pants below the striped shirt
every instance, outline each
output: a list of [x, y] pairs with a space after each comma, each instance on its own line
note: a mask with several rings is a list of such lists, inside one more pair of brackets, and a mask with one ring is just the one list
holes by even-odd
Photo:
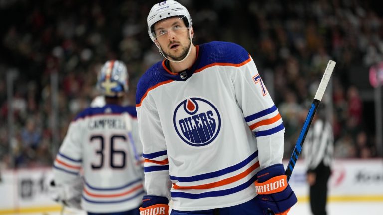
[[327, 215], [327, 182], [330, 178], [330, 167], [323, 165], [321, 162], [315, 169], [316, 180], [310, 186], [310, 207], [314, 215]]

